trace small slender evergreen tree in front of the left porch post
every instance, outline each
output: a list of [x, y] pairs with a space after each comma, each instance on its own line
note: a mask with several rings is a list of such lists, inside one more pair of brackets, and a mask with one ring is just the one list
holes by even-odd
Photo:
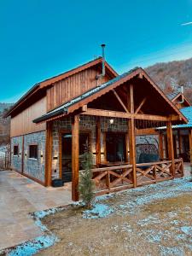
[[84, 201], [85, 207], [91, 208], [91, 202], [94, 198], [94, 182], [92, 181], [91, 172], [93, 156], [90, 152], [88, 142], [84, 145], [84, 154], [82, 155], [81, 164], [84, 171], [80, 173], [79, 194]]

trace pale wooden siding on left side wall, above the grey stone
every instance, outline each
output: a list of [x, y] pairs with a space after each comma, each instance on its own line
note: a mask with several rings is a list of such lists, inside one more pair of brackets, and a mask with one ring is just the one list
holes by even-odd
[[46, 113], [45, 96], [29, 108], [26, 108], [21, 113], [11, 118], [10, 137], [46, 130], [46, 124], [36, 125], [32, 123], [33, 119], [38, 118], [44, 113]]

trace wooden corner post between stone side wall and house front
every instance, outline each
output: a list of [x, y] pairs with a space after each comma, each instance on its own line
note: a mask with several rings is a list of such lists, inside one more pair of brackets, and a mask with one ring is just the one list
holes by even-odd
[[52, 123], [47, 122], [46, 124], [46, 145], [45, 145], [45, 186], [51, 186], [51, 175], [52, 175], [52, 150], [53, 150], [53, 139], [52, 139]]

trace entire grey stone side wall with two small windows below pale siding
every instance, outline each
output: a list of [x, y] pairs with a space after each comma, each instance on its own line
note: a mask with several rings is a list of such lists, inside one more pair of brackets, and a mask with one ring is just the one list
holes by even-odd
[[[23, 136], [11, 138], [11, 167], [19, 172], [22, 169], [22, 155], [24, 157], [24, 174], [45, 181], [45, 131], [24, 135], [24, 152], [22, 154]], [[38, 159], [29, 158], [29, 145], [38, 145]], [[19, 156], [14, 155], [14, 146], [19, 146]]]

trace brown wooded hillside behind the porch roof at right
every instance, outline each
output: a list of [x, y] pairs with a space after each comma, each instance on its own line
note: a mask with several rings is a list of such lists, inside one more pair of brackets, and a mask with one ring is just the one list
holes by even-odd
[[192, 102], [192, 58], [185, 61], [156, 63], [145, 69], [165, 93], [184, 86], [184, 94]]

